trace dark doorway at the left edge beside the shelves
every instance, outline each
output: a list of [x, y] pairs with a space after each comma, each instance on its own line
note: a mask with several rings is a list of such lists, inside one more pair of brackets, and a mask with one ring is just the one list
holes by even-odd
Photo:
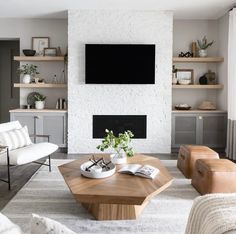
[[18, 39], [0, 40], [0, 123], [9, 122], [9, 110], [19, 107], [20, 91], [14, 88], [20, 80], [16, 73], [19, 62], [13, 59], [19, 51]]

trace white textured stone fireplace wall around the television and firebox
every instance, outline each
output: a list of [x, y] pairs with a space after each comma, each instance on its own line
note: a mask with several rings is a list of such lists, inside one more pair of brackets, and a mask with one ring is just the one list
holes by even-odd
[[[133, 140], [135, 150], [169, 153], [172, 12], [70, 10], [68, 23], [68, 152], [98, 152], [93, 115], [147, 115], [147, 138]], [[85, 84], [86, 43], [155, 44], [155, 85]]]

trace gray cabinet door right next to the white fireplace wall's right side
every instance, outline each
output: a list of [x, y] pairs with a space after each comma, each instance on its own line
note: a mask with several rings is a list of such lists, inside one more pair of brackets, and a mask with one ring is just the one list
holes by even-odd
[[172, 115], [172, 147], [197, 144], [196, 115]]

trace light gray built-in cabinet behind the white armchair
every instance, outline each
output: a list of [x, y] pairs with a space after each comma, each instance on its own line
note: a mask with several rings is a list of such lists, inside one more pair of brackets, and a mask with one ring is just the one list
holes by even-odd
[[[67, 113], [66, 112], [11, 112], [11, 121], [19, 120], [26, 125], [29, 134], [50, 135], [50, 142], [59, 147], [67, 147]], [[37, 139], [37, 142], [45, 139]]]

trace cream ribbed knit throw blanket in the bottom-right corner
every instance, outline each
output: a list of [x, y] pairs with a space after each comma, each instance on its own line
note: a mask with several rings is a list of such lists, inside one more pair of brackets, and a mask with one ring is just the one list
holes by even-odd
[[196, 198], [185, 233], [222, 234], [226, 232], [236, 233], [236, 193], [209, 194]]

